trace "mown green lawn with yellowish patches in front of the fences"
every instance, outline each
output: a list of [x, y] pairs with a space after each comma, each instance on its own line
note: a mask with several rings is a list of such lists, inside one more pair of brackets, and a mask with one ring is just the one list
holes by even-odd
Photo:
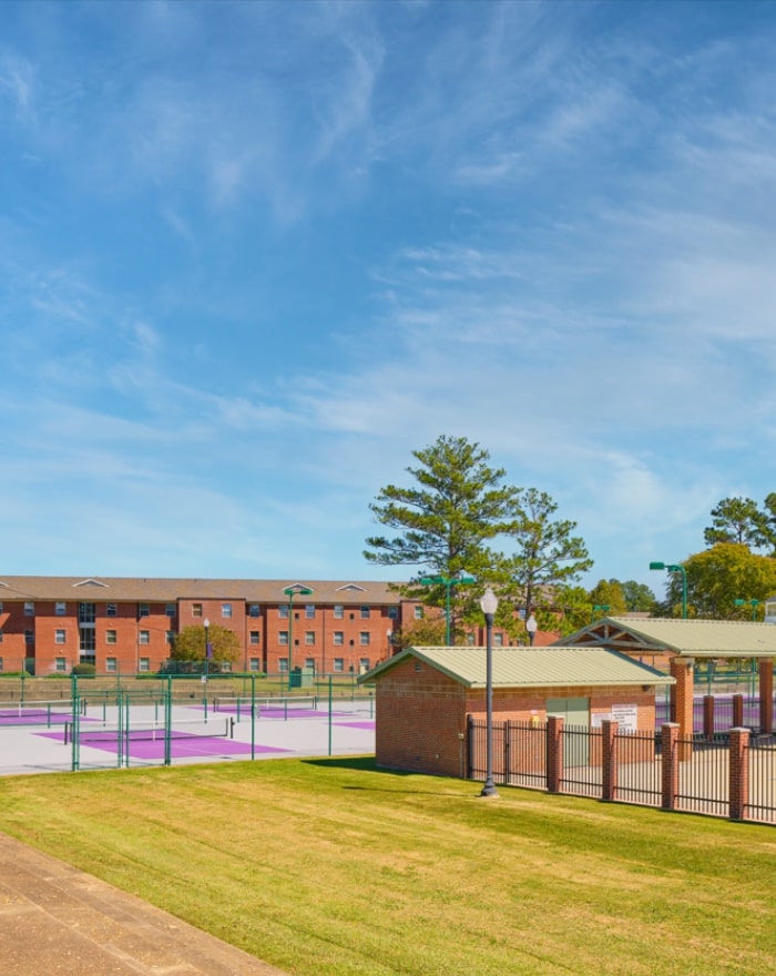
[[0, 780], [0, 830], [294, 974], [769, 976], [776, 831], [364, 760]]

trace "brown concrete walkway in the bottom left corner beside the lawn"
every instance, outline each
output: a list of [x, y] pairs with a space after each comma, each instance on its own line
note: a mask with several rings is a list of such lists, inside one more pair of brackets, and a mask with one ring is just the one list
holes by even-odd
[[284, 976], [0, 833], [2, 976]]

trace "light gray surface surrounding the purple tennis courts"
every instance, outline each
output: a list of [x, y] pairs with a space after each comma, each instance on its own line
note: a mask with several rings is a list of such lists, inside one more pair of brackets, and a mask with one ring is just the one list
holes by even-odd
[[[61, 705], [62, 703], [58, 703]], [[190, 741], [173, 739], [172, 765], [218, 762], [227, 760], [256, 760], [293, 756], [370, 755], [375, 752], [375, 704], [369, 701], [334, 701], [329, 718], [328, 702], [319, 701], [315, 709], [262, 708], [253, 723], [249, 708], [236, 708], [224, 702], [218, 711], [208, 709], [207, 721], [212, 723], [213, 738], [200, 738], [203, 731], [203, 705], [173, 705], [173, 723], [187, 728], [196, 723], [197, 738]], [[65, 772], [72, 769], [72, 745], [65, 743], [68, 715], [59, 714], [51, 725], [19, 725], [0, 721], [0, 775], [24, 773]], [[81, 729], [100, 729], [102, 722], [118, 723], [115, 706], [89, 708], [81, 718]], [[153, 705], [134, 705], [130, 726], [149, 726], [160, 720]], [[225, 728], [228, 726], [228, 734]], [[161, 765], [163, 763], [163, 734], [159, 743], [130, 742], [121, 750], [121, 765], [130, 767]], [[90, 743], [84, 735], [79, 746], [81, 770], [116, 769], [119, 756], [114, 743]]]

